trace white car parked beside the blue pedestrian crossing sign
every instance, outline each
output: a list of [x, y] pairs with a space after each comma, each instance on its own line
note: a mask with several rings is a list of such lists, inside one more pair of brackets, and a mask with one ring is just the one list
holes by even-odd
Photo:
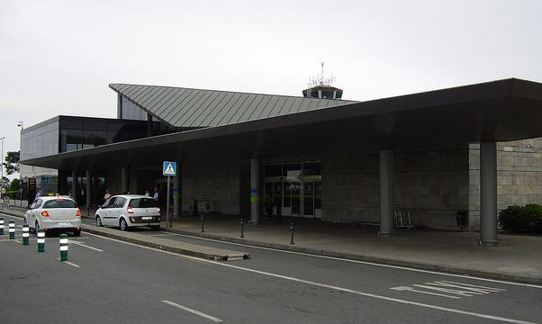
[[149, 226], [159, 229], [160, 208], [152, 198], [140, 194], [121, 194], [109, 198], [96, 211], [96, 226], [115, 226], [122, 230]]

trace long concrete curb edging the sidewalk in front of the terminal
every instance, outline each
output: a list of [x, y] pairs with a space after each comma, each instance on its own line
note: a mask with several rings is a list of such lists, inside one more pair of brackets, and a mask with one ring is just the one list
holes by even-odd
[[447, 274], [452, 274], [452, 275], [476, 276], [476, 277], [482, 277], [482, 278], [487, 278], [487, 279], [497, 279], [497, 280], [502, 280], [502, 281], [515, 282], [519, 284], [542, 284], [542, 277], [525, 276], [525, 275], [508, 275], [508, 274], [494, 273], [494, 272], [482, 271], [482, 270], [465, 269], [465, 268], [460, 268], [456, 266], [438, 266], [438, 265], [424, 264], [420, 262], [404, 261], [404, 260], [389, 259], [389, 258], [382, 258], [382, 257], [352, 255], [348, 253], [341, 253], [341, 252], [335, 252], [335, 251], [318, 250], [318, 249], [313, 249], [309, 247], [296, 247], [296, 246], [290, 246], [290, 245], [260, 242], [260, 241], [243, 239], [243, 238], [230, 238], [230, 237], [224, 237], [221, 235], [196, 233], [196, 232], [191, 232], [191, 231], [187, 231], [183, 229], [160, 228], [160, 230], [168, 231], [168, 232], [176, 233], [176, 234], [183, 234], [186, 236], [199, 237], [199, 238], [212, 238], [212, 239], [217, 239], [217, 240], [221, 240], [225, 242], [246, 244], [246, 245], [252, 245], [255, 247], [275, 248], [279, 250], [306, 253], [306, 254], [312, 254], [315, 256], [322, 256], [322, 257], [345, 258], [345, 259], [350, 259], [350, 260], [363, 261], [363, 262], [375, 263], [375, 264], [386, 265], [386, 266], [404, 266], [404, 267], [410, 267], [410, 268], [419, 269], [419, 270], [428, 270], [428, 271], [441, 272], [441, 273], [447, 273]]

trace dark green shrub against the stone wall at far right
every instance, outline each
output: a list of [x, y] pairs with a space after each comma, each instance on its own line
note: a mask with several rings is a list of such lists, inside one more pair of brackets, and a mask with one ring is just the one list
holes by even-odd
[[513, 233], [542, 234], [542, 205], [511, 205], [499, 213], [502, 229]]

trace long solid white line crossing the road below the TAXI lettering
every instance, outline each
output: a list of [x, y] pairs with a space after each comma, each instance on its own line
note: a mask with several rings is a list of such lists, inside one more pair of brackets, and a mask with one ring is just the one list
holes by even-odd
[[229, 267], [229, 268], [232, 268], [232, 269], [237, 269], [237, 270], [240, 270], [240, 271], [246, 271], [246, 272], [250, 272], [250, 273], [254, 273], [254, 274], [258, 274], [258, 275], [267, 275], [267, 276], [280, 278], [280, 279], [285, 279], [285, 280], [289, 280], [289, 281], [293, 281], [293, 282], [297, 282], [297, 283], [310, 284], [310, 285], [314, 285], [314, 286], [317, 286], [317, 287], [336, 290], [336, 291], [339, 291], [339, 292], [354, 293], [354, 294], [357, 294], [357, 295], [360, 295], [360, 296], [374, 298], [374, 299], [388, 301], [388, 302], [398, 302], [398, 303], [402, 303], [402, 304], [409, 304], [409, 305], [419, 306], [419, 307], [423, 307], [423, 308], [429, 308], [429, 309], [432, 309], [432, 310], [447, 311], [447, 312], [452, 312], [452, 313], [456, 313], [456, 314], [463, 314], [463, 315], [473, 316], [473, 317], [482, 318], [482, 319], [486, 319], [486, 320], [499, 320], [499, 321], [503, 321], [503, 322], [516, 323], [516, 324], [540, 324], [540, 323], [536, 323], [536, 322], [530, 322], [530, 321], [527, 321], [527, 320], [507, 319], [507, 318], [502, 318], [502, 317], [499, 317], [499, 316], [493, 316], [493, 315], [477, 313], [477, 312], [474, 312], [474, 311], [461, 311], [461, 310], [451, 309], [451, 308], [447, 308], [447, 307], [430, 305], [430, 304], [426, 304], [426, 303], [422, 303], [422, 302], [411, 302], [411, 301], [402, 300], [402, 299], [398, 299], [398, 298], [392, 298], [392, 297], [377, 295], [375, 293], [364, 293], [364, 292], [359, 292], [359, 291], [355, 291], [355, 290], [348, 289], [348, 288], [333, 286], [333, 285], [330, 285], [330, 284], [321, 284], [321, 283], [316, 283], [316, 282], [312, 282], [312, 281], [309, 281], [309, 280], [303, 280], [303, 279], [299, 279], [299, 278], [295, 278], [295, 277], [291, 277], [291, 276], [277, 275], [277, 274], [268, 273], [268, 272], [265, 272], [265, 271], [259, 271], [259, 270], [244, 268], [244, 267], [241, 267], [241, 266], [233, 266], [233, 265], [221, 263], [221, 262], [218, 262], [218, 261], [212, 261], [212, 260], [202, 259], [202, 258], [198, 258], [198, 257], [190, 257], [190, 256], [178, 255], [176, 253], [159, 250], [158, 248], [154, 248], [154, 247], [144, 247], [144, 246], [137, 245], [135, 243], [124, 242], [122, 240], [115, 239], [115, 238], [105, 238], [105, 237], [102, 237], [100, 235], [93, 234], [93, 233], [88, 233], [88, 234], [96, 236], [98, 238], [104, 238], [104, 239], [112, 240], [112, 241], [119, 242], [119, 243], [122, 243], [122, 244], [131, 245], [133, 247], [145, 248], [145, 249], [165, 253], [165, 254], [168, 254], [168, 255], [176, 256], [176, 257], [183, 257], [183, 258], [196, 260], [196, 261], [199, 261], [199, 262], [204, 262], [204, 263], [208, 263], [208, 264], [212, 264], [212, 265], [216, 265], [216, 266], [225, 266], [225, 267]]

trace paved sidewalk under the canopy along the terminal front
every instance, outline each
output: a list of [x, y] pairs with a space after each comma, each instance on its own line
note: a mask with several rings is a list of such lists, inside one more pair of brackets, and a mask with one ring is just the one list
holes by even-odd
[[[22, 210], [7, 210], [10, 211]], [[239, 219], [224, 215], [206, 218], [203, 233], [201, 220], [196, 217], [174, 221], [172, 229], [166, 230], [329, 257], [542, 284], [540, 236], [500, 234], [498, 247], [481, 247], [477, 243], [478, 232], [401, 229], [394, 238], [378, 238], [377, 229], [373, 228], [290, 220], [295, 222], [294, 245], [290, 245], [287, 219], [283, 224], [272, 220], [259, 225], [245, 223], [245, 238], [239, 238]]]

